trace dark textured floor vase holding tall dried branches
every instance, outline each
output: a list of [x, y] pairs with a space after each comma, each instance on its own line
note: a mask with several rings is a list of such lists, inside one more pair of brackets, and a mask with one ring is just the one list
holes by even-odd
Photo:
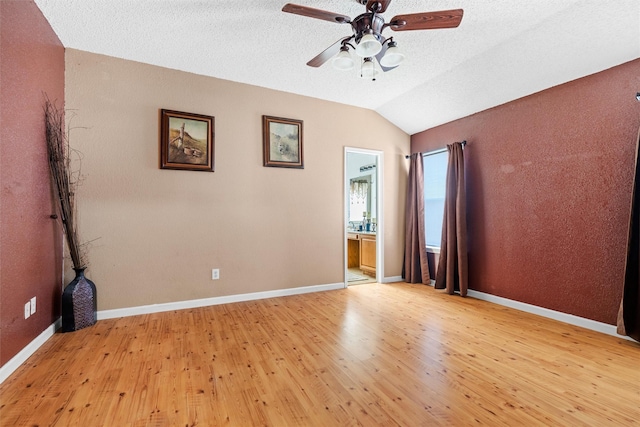
[[96, 285], [84, 277], [84, 268], [74, 268], [76, 277], [62, 293], [62, 332], [73, 332], [97, 321]]

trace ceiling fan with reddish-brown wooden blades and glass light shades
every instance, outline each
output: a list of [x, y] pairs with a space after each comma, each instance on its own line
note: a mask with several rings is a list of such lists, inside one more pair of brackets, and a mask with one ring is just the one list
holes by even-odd
[[[350, 70], [355, 62], [349, 48], [355, 50], [362, 58], [361, 77], [376, 79], [378, 70], [374, 62], [380, 64], [382, 71], [393, 70], [404, 60], [404, 54], [398, 50], [393, 37], [385, 38], [382, 31], [389, 27], [393, 31], [433, 30], [440, 28], [456, 28], [462, 21], [462, 9], [442, 10], [439, 12], [410, 13], [396, 15], [388, 23], [384, 22], [382, 13], [387, 10], [391, 0], [356, 0], [366, 6], [367, 11], [351, 19], [346, 15], [287, 3], [283, 12], [310, 18], [350, 24], [353, 34], [341, 38], [329, 46], [318, 56], [307, 62], [311, 67], [319, 67], [333, 58], [333, 66], [339, 70]], [[355, 44], [355, 46], [354, 46]]]

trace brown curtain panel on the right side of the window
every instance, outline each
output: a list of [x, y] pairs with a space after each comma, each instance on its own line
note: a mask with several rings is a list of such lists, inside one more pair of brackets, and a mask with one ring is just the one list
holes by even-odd
[[462, 143], [447, 145], [449, 165], [442, 220], [442, 243], [436, 272], [436, 289], [467, 295], [467, 204], [464, 189]]

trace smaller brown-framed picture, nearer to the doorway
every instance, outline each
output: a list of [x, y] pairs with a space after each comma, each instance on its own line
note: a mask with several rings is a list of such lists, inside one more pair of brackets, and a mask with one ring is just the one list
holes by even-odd
[[303, 122], [262, 116], [264, 166], [304, 169]]

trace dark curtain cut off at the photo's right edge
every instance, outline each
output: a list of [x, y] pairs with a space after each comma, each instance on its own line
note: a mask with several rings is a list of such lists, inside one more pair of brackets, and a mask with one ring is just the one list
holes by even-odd
[[638, 170], [638, 146], [636, 140], [635, 179], [631, 195], [631, 218], [627, 240], [627, 262], [624, 274], [622, 301], [618, 311], [618, 333], [640, 341], [640, 171]]

